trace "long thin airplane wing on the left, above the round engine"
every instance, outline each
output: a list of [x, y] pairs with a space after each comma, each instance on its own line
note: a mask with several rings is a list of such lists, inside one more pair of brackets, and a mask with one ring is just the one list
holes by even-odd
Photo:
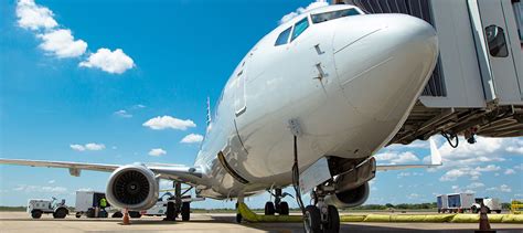
[[[19, 165], [30, 167], [46, 168], [66, 168], [73, 177], [79, 177], [82, 170], [113, 172], [121, 167], [120, 165], [103, 165], [103, 163], [84, 163], [70, 161], [45, 161], [45, 160], [28, 160], [28, 159], [2, 159], [0, 165]], [[142, 165], [159, 176], [159, 178], [169, 180], [179, 180], [188, 184], [202, 184], [202, 170], [195, 167], [185, 167], [180, 165]]]

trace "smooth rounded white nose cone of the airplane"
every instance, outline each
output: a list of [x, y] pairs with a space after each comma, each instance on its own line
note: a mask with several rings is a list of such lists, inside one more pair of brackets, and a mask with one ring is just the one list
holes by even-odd
[[338, 81], [359, 113], [396, 120], [430, 77], [438, 56], [436, 31], [406, 14], [363, 15], [359, 21], [340, 23], [335, 32]]

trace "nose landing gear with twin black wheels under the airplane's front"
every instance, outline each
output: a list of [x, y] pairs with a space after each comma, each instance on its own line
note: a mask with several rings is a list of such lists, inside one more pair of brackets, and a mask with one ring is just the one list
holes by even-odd
[[321, 184], [311, 193], [314, 204], [307, 205], [303, 213], [306, 232], [340, 232], [340, 214], [334, 205], [328, 205], [324, 198], [334, 192], [332, 184]]

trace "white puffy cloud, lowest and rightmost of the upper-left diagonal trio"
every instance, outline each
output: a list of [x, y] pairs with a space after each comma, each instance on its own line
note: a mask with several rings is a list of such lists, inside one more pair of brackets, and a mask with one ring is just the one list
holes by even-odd
[[95, 67], [110, 74], [121, 74], [135, 66], [131, 57], [124, 53], [121, 49], [111, 52], [108, 49], [102, 47], [87, 57], [86, 61], [78, 64], [81, 67]]

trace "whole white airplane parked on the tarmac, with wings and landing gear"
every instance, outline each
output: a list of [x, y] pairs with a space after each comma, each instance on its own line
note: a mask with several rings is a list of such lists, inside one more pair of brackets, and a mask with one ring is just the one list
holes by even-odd
[[[376, 167], [372, 157], [405, 121], [437, 57], [436, 32], [420, 19], [318, 8], [276, 28], [239, 62], [193, 166], [0, 163], [113, 172], [108, 201], [128, 210], [154, 205], [161, 178], [238, 202], [274, 190], [266, 214], [285, 215], [281, 189], [293, 186], [300, 206], [299, 193], [312, 191], [314, 204], [302, 206], [307, 232], [338, 232], [337, 208], [362, 204], [376, 170], [441, 163], [434, 142], [431, 165]], [[189, 202], [175, 210], [189, 220]]]

